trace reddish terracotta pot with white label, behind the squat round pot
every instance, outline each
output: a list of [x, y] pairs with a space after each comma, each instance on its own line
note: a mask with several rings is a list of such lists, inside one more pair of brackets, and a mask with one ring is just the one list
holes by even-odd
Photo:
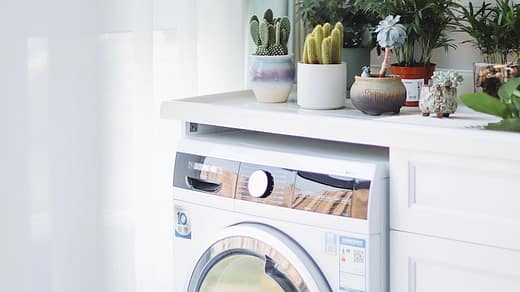
[[[392, 73], [401, 76], [406, 87], [406, 106], [419, 106], [421, 88], [427, 85], [435, 71], [435, 64], [430, 66], [392, 65]], [[422, 82], [421, 82], [422, 80]]]

